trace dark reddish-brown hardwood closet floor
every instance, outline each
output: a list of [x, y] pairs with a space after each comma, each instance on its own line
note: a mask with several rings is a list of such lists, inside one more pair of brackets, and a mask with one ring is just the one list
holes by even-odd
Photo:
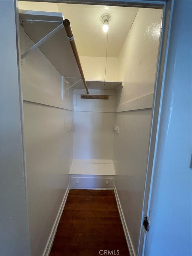
[[49, 255], [128, 256], [114, 191], [71, 189]]

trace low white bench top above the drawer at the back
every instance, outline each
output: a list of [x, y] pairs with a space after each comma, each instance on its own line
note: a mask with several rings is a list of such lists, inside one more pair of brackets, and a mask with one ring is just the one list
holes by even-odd
[[115, 175], [113, 160], [73, 159], [69, 174], [75, 175]]

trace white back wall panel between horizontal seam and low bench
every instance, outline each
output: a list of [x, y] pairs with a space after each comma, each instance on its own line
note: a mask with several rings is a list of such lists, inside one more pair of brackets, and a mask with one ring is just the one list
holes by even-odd
[[73, 158], [112, 159], [114, 121], [115, 113], [75, 111]]

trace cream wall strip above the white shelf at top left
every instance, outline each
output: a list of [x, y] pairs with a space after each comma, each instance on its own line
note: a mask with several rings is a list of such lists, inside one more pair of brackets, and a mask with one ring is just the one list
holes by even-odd
[[18, 6], [21, 10], [59, 12], [55, 3], [18, 1]]

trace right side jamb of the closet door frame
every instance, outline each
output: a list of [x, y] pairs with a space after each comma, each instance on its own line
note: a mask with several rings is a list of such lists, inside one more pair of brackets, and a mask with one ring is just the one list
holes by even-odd
[[140, 238], [138, 244], [137, 255], [145, 255], [145, 245], [147, 233], [144, 226], [143, 220], [146, 215], [149, 221], [150, 227], [150, 203], [153, 187], [153, 176], [155, 172], [156, 154], [158, 147], [158, 134], [161, 129], [160, 127], [160, 116], [163, 107], [163, 92], [164, 92], [164, 81], [167, 66], [167, 54], [169, 48], [169, 38], [171, 29], [171, 20], [173, 14], [174, 0], [167, 1], [164, 5], [163, 16], [162, 16], [162, 27], [161, 27], [161, 38], [158, 52], [158, 65], [156, 70], [155, 87], [154, 87], [154, 98], [152, 107], [152, 120], [151, 120], [151, 131], [149, 137], [149, 152], [146, 168], [146, 181], [143, 196], [143, 210], [141, 217], [140, 226]]

